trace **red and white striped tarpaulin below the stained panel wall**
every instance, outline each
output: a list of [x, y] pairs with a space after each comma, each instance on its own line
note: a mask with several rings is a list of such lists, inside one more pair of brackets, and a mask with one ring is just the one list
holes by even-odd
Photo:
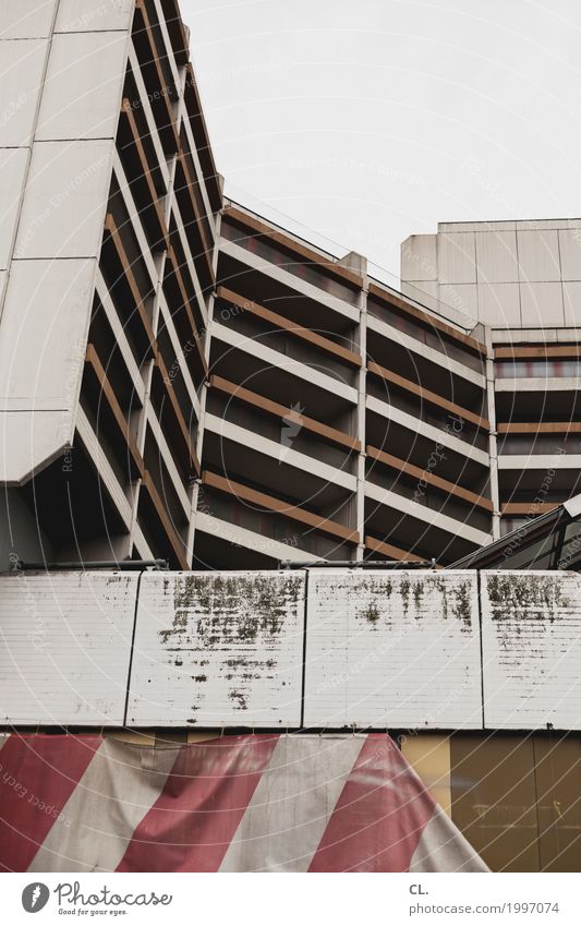
[[383, 734], [0, 739], [9, 871], [485, 871]]

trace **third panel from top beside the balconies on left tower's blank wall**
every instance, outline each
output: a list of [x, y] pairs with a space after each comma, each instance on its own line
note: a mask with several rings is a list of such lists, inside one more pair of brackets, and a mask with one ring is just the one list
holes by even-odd
[[111, 175], [113, 143], [35, 144], [16, 257], [94, 257]]

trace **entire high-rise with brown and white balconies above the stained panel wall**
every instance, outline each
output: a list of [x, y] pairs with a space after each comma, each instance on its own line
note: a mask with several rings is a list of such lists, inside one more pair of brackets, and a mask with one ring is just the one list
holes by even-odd
[[222, 200], [173, 0], [37, 7], [0, 13], [4, 567], [447, 565], [578, 491], [574, 228], [410, 239], [398, 292]]

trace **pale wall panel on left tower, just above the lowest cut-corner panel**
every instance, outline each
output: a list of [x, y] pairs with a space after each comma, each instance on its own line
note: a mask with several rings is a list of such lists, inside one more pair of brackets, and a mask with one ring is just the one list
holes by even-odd
[[0, 408], [73, 408], [94, 275], [94, 261], [13, 262], [0, 326]]

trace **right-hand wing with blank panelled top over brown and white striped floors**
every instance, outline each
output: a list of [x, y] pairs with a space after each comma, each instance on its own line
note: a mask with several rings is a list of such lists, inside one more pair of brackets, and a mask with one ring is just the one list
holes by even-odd
[[484, 326], [500, 533], [574, 495], [581, 220], [440, 224], [403, 242], [401, 277], [435, 311]]

